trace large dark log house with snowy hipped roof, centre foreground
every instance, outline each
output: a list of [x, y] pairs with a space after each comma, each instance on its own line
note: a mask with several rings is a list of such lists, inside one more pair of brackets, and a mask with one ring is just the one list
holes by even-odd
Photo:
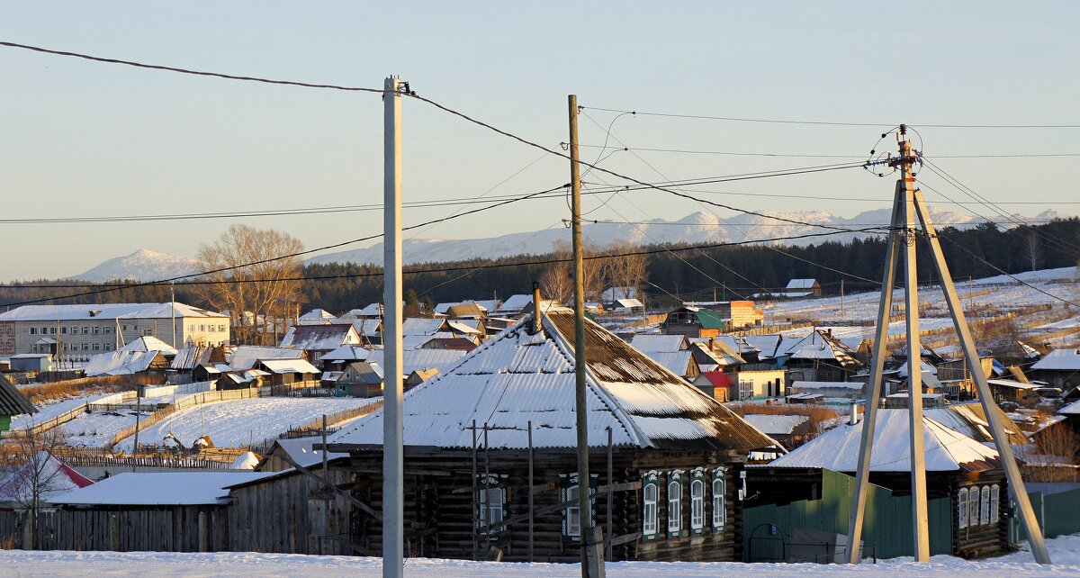
[[[527, 315], [404, 400], [407, 555], [578, 562], [573, 313]], [[589, 453], [608, 560], [737, 560], [739, 470], [774, 441], [599, 325], [585, 328]], [[382, 411], [330, 439], [381, 501]], [[381, 523], [355, 511], [352, 547]], [[530, 523], [531, 521], [531, 523]]]

